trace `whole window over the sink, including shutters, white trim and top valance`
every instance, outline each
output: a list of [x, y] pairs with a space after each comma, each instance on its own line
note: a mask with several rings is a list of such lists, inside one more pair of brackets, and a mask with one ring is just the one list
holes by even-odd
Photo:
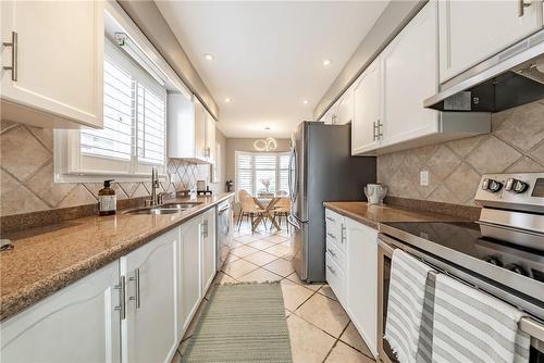
[[153, 166], [166, 172], [166, 96], [187, 90], [141, 34], [132, 29], [128, 36], [126, 25], [106, 13], [103, 128], [54, 130], [58, 183], [140, 182]]

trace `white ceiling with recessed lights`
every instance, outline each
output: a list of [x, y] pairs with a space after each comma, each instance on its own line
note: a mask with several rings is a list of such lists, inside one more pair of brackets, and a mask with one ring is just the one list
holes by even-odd
[[157, 1], [218, 102], [218, 127], [226, 137], [289, 137], [311, 118], [386, 4]]

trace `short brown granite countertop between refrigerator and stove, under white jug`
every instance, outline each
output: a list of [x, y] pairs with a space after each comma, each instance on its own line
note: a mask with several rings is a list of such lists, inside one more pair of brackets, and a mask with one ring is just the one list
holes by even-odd
[[367, 202], [324, 202], [323, 205], [338, 214], [379, 229], [383, 222], [461, 222], [458, 216], [421, 212], [401, 206], [368, 204]]

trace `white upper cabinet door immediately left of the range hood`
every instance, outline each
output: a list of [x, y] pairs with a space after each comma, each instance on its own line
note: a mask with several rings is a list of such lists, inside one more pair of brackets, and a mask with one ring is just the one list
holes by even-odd
[[381, 147], [438, 132], [438, 112], [423, 100], [438, 89], [437, 3], [430, 1], [380, 55]]

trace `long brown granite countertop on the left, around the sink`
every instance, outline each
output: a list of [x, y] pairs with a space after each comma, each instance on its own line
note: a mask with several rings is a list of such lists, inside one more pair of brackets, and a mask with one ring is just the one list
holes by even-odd
[[[89, 216], [14, 233], [0, 252], [0, 321], [149, 242], [234, 193], [198, 197], [187, 211], [163, 215]], [[188, 198], [168, 202], [188, 201]]]

